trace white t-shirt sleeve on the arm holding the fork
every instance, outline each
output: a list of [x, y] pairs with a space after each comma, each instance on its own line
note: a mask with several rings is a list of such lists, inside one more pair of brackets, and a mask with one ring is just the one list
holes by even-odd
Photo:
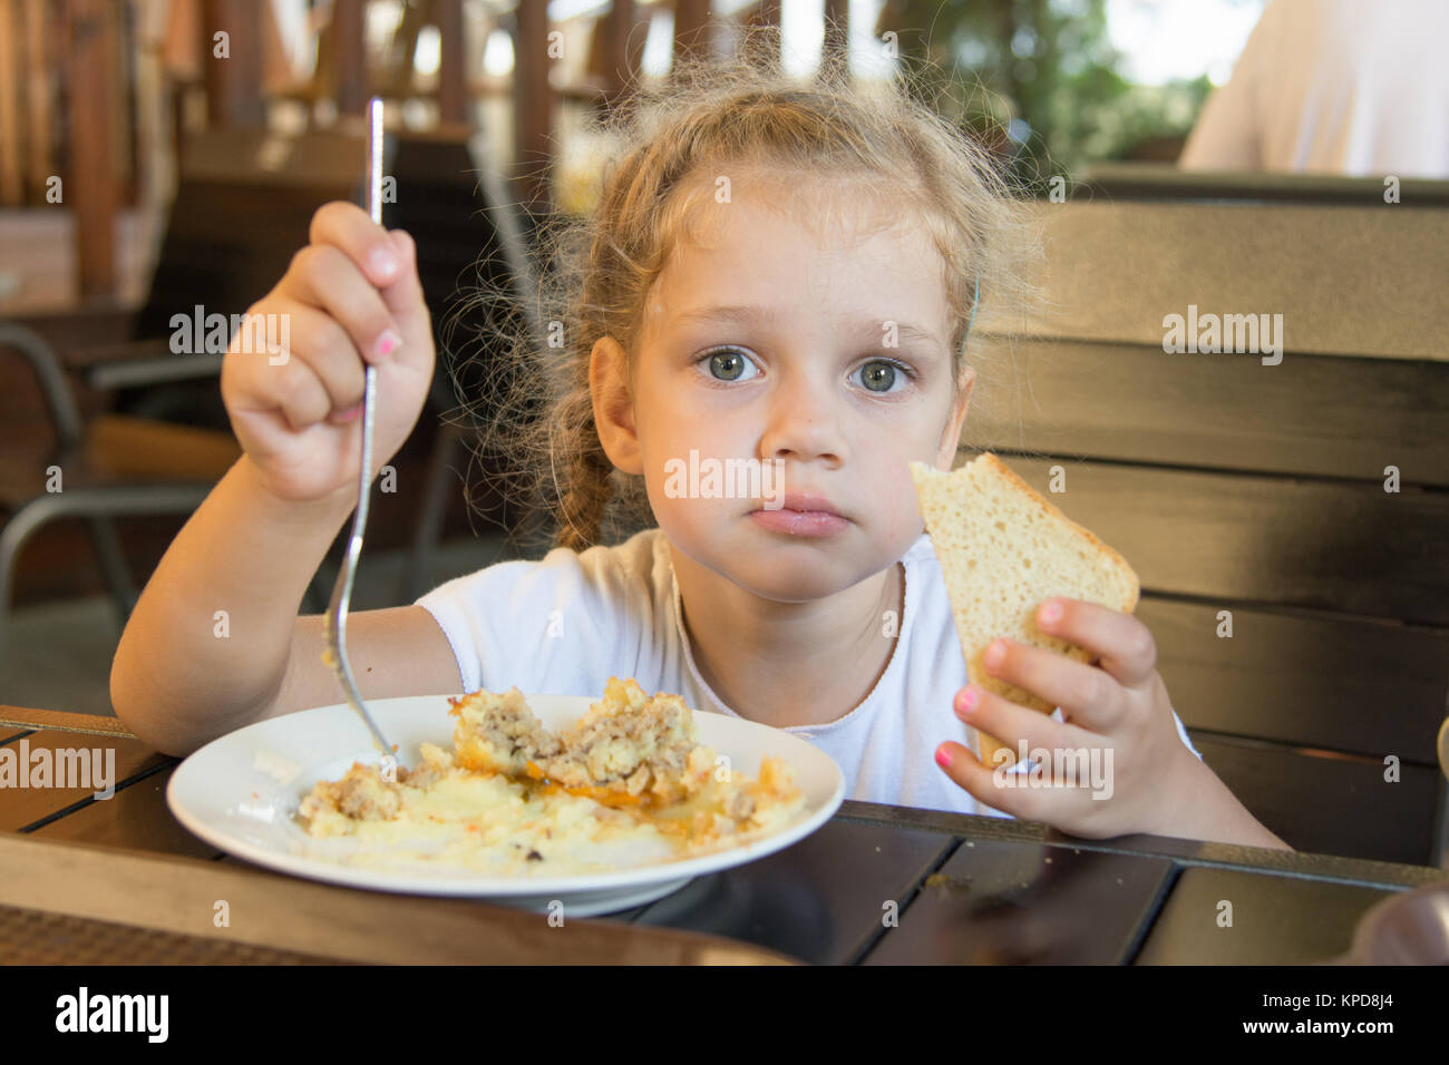
[[448, 638], [464, 691], [597, 696], [639, 661], [626, 585], [611, 552], [555, 548], [458, 577], [416, 604]]

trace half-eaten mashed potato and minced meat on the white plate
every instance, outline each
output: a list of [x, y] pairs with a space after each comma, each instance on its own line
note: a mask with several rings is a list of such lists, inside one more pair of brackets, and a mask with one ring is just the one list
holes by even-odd
[[548, 732], [517, 688], [451, 700], [454, 751], [384, 780], [354, 764], [297, 810], [310, 836], [362, 843], [351, 861], [439, 862], [500, 875], [600, 872], [709, 853], [769, 833], [804, 806], [788, 768], [732, 772], [697, 742], [678, 696], [613, 677], [574, 726]]

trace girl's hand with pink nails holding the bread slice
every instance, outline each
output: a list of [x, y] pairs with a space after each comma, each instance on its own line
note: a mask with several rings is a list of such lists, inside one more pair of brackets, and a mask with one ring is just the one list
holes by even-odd
[[[1052, 604], [1061, 606], [1055, 620], [1046, 614]], [[956, 716], [1013, 752], [1023, 739], [1029, 753], [1039, 748], [1049, 752], [1042, 759], [1045, 780], [1030, 781], [1039, 775], [1030, 771], [997, 774], [997, 767], [982, 765], [961, 743], [942, 743], [936, 761], [978, 800], [1023, 820], [1088, 839], [1133, 832], [1175, 835], [1174, 819], [1184, 800], [1191, 801], [1185, 793], [1201, 782], [1203, 767], [1172, 720], [1152, 633], [1132, 614], [1072, 598], [1046, 600], [1037, 610], [1037, 627], [1097, 655], [1097, 664], [1001, 639], [1000, 658], [987, 651], [987, 672], [1059, 706], [1064, 720], [974, 684], [956, 693]], [[964, 711], [969, 693], [975, 706]], [[1078, 758], [1078, 751], [1090, 758]], [[1075, 787], [1069, 785], [1072, 762]]]

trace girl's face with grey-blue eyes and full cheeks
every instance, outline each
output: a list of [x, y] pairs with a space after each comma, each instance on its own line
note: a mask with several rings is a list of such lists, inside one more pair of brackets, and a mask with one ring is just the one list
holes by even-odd
[[[817, 233], [736, 181], [730, 203], [706, 207], [717, 222], [707, 246], [677, 246], [649, 293], [633, 381], [620, 388], [617, 343], [594, 349], [601, 440], [643, 474], [661, 529], [698, 565], [780, 601], [858, 584], [920, 536], [907, 464], [951, 468], [974, 385], [971, 371], [952, 404], [933, 245], [848, 196], [832, 197]], [[745, 459], [753, 497], [738, 494]], [[765, 507], [784, 497], [788, 509], [794, 493], [839, 519], [803, 527]]]

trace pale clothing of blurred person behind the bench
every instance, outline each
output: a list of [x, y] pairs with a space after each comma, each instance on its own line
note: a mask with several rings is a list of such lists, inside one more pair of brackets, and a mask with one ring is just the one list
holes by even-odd
[[1178, 165], [1449, 178], [1446, 42], [1446, 0], [1272, 0]]

